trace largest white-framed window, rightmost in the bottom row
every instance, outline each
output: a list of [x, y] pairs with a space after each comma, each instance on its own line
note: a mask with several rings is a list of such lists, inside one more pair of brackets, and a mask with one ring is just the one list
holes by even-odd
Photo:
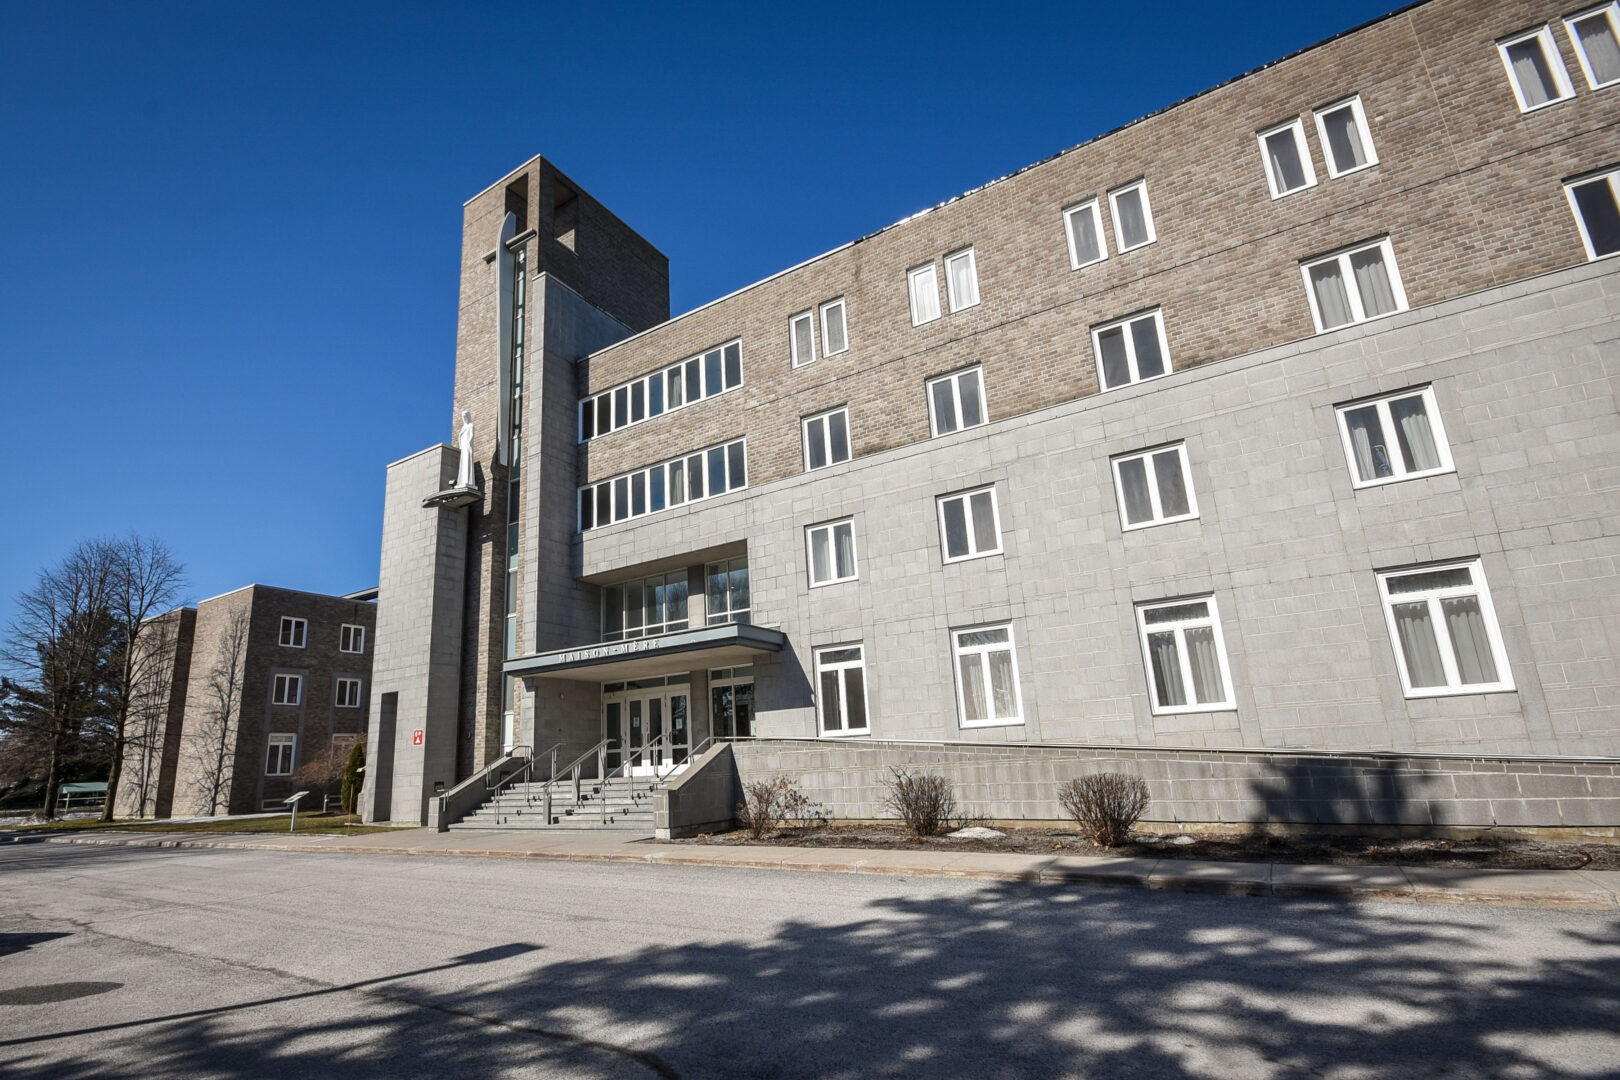
[[1379, 594], [1408, 698], [1513, 690], [1477, 559], [1387, 570]]

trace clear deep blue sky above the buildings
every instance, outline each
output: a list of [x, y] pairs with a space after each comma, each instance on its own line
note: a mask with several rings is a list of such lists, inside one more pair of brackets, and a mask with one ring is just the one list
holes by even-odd
[[374, 585], [462, 202], [535, 154], [679, 313], [1393, 6], [0, 0], [0, 625], [105, 533]]

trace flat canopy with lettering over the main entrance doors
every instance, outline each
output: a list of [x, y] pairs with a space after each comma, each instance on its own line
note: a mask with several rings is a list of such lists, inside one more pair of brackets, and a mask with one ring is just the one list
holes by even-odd
[[651, 638], [535, 653], [507, 661], [502, 670], [507, 675], [616, 682], [705, 667], [737, 667], [752, 664], [760, 653], [781, 653], [786, 644], [787, 635], [781, 630], [729, 622]]

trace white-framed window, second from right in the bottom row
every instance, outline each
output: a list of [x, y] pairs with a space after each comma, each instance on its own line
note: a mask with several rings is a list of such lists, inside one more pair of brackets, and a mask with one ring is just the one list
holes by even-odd
[[1236, 708], [1213, 596], [1137, 604], [1136, 622], [1142, 633], [1153, 712]]

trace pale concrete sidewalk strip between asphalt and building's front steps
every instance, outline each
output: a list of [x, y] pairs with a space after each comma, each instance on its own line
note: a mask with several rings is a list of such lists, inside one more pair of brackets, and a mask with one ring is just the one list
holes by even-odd
[[[6, 837], [0, 836], [0, 840]], [[11, 837], [31, 842], [28, 834]], [[883, 852], [872, 848], [792, 848], [765, 845], [659, 844], [614, 832], [400, 829], [366, 836], [206, 836], [97, 831], [44, 836], [45, 844], [235, 848], [253, 852], [339, 852], [458, 855], [554, 861], [658, 863], [664, 866], [747, 866], [820, 870], [907, 878], [980, 878], [1038, 884], [1131, 886], [1183, 892], [1275, 897], [1341, 897], [1413, 904], [1494, 904], [1620, 910], [1620, 871], [1452, 870], [1439, 866], [1324, 866], [1299, 863], [1215, 863], [1189, 858], [1087, 858], [1081, 855], [993, 855], [978, 852]]]

